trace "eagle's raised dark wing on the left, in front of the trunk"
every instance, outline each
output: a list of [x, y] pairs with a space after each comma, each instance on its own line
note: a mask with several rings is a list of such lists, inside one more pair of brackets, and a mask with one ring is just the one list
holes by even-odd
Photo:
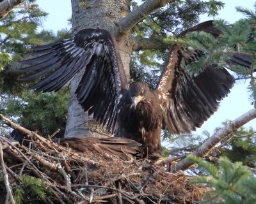
[[108, 130], [115, 128], [118, 96], [127, 87], [127, 80], [115, 38], [108, 31], [84, 29], [74, 38], [37, 47], [27, 55], [37, 57], [21, 61], [30, 66], [20, 69], [29, 73], [20, 80], [46, 75], [30, 88], [49, 92], [60, 90], [75, 75], [83, 74], [76, 90], [79, 103], [100, 124], [107, 124]]

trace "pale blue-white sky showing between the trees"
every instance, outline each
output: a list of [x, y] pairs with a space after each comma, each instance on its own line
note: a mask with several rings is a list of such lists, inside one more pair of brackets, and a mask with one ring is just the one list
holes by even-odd
[[[220, 15], [216, 19], [224, 19], [229, 23], [234, 23], [239, 18], [243, 18], [243, 15], [236, 12], [236, 6], [242, 6], [254, 10], [254, 0], [224, 0], [225, 8], [220, 11]], [[68, 27], [67, 19], [71, 17], [71, 3], [70, 0], [38, 0], [37, 4], [44, 11], [49, 13], [49, 16], [44, 22], [44, 29], [51, 29], [58, 31], [62, 28]], [[211, 20], [212, 18], [206, 15], [200, 17], [201, 22], [205, 20]], [[92, 19], [90, 19], [92, 20]], [[70, 27], [70, 26], [69, 26]], [[249, 93], [247, 91], [248, 83], [239, 83], [234, 85], [228, 97], [223, 99], [220, 103], [218, 112], [214, 113], [212, 117], [204, 123], [202, 128], [198, 129], [196, 133], [201, 133], [204, 130], [213, 133], [214, 128], [221, 126], [221, 122], [225, 120], [234, 120], [243, 113], [253, 108], [248, 98]], [[247, 126], [252, 126], [256, 129], [256, 120], [252, 120]]]

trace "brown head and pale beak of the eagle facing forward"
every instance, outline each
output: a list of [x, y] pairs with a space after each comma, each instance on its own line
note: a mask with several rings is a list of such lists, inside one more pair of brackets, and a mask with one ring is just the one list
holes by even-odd
[[130, 96], [132, 99], [132, 106], [134, 108], [142, 99], [149, 93], [148, 85], [145, 83], [135, 83], [130, 86]]

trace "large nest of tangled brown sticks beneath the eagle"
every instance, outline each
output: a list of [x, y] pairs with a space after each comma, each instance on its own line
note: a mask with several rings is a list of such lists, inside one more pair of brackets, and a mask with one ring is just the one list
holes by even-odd
[[14, 193], [24, 175], [44, 180], [51, 193], [46, 198], [25, 194], [23, 203], [195, 203], [205, 192], [189, 184], [188, 175], [169, 173], [148, 159], [84, 154], [36, 133], [29, 137], [25, 147], [0, 136], [1, 170], [6, 168], [10, 182], [0, 179], [1, 198], [8, 185]]

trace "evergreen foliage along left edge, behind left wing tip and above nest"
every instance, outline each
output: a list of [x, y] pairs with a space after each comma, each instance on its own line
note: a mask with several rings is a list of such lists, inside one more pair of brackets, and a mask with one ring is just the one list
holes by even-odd
[[[26, 1], [26, 5], [36, 1]], [[40, 28], [47, 13], [38, 7], [12, 10], [0, 22], [0, 110], [1, 113], [31, 131], [51, 135], [60, 128], [63, 135], [67, 120], [67, 91], [35, 94], [27, 91], [30, 84], [17, 82], [22, 53], [38, 45], [68, 38], [70, 31], [63, 29], [55, 35]], [[3, 59], [2, 59], [3, 57]], [[4, 58], [5, 57], [5, 58]], [[14, 62], [10, 64], [10, 62]], [[4, 69], [3, 69], [3, 66]], [[1, 132], [5, 132], [3, 124]], [[7, 134], [7, 133], [5, 133]]]

